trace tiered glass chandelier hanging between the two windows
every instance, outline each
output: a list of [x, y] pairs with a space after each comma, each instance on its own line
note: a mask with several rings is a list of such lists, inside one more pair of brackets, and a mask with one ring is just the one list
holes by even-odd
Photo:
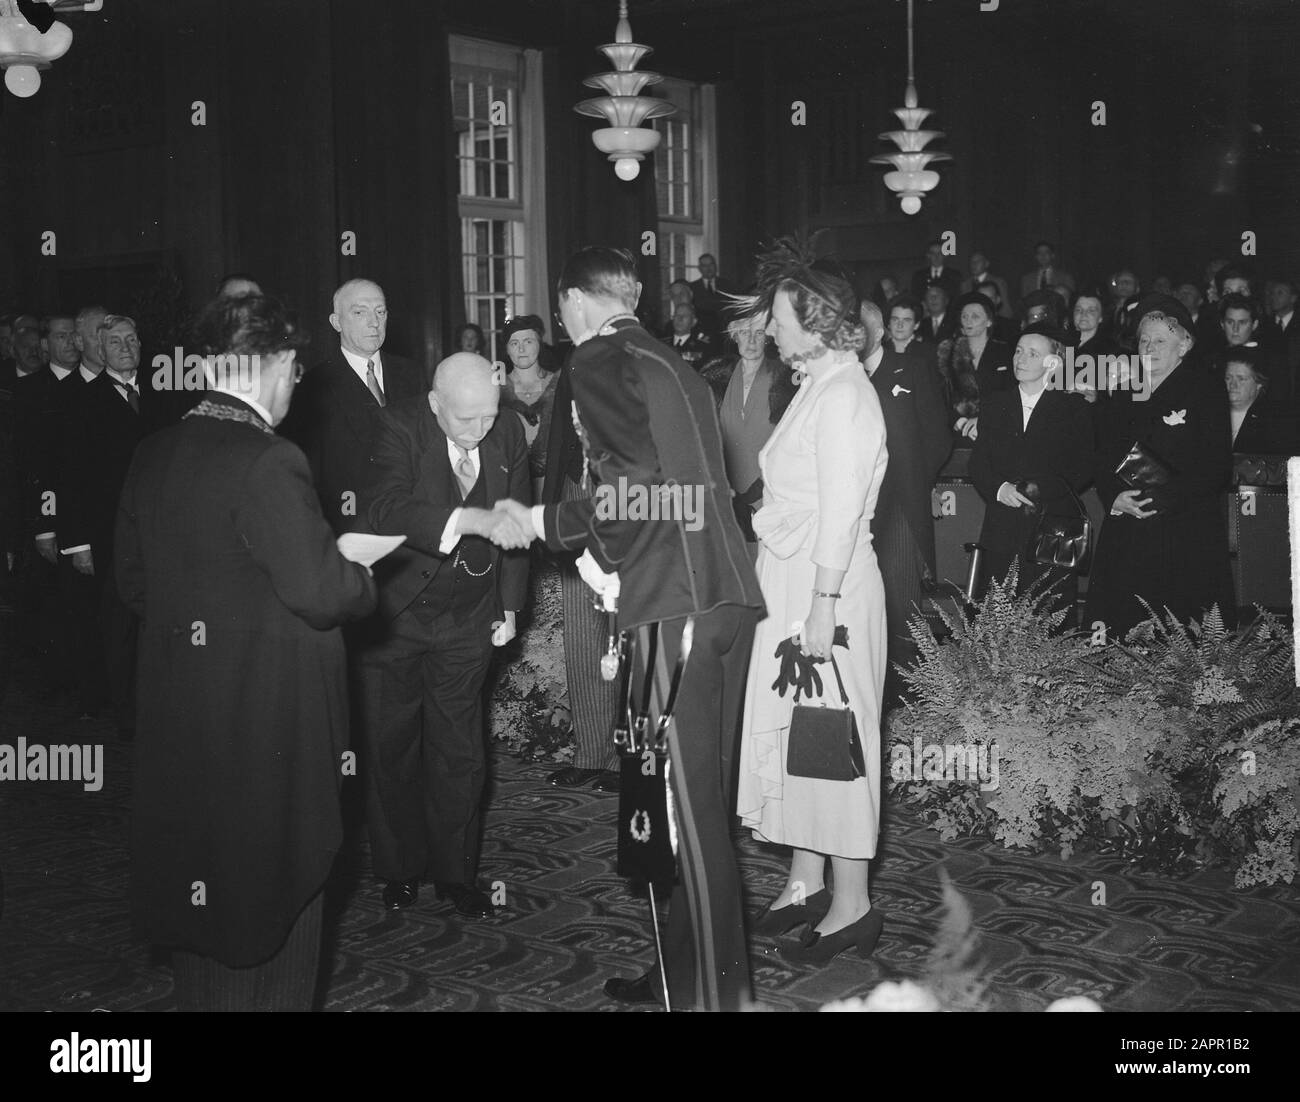
[[619, 179], [636, 179], [641, 173], [642, 159], [659, 144], [659, 131], [642, 123], [676, 114], [677, 108], [667, 100], [641, 95], [644, 88], [658, 84], [663, 77], [658, 73], [636, 71], [641, 58], [654, 51], [632, 40], [628, 0], [619, 0], [619, 25], [614, 42], [602, 45], [601, 52], [610, 58], [614, 71], [588, 77], [582, 83], [589, 88], [601, 88], [604, 95], [582, 100], [573, 110], [592, 118], [603, 118], [608, 123], [592, 134], [592, 142], [614, 161], [614, 172]]

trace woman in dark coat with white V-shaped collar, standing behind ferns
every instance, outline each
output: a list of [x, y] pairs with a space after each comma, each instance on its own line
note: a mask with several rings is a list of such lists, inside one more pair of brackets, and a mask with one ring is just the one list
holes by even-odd
[[1063, 353], [1061, 334], [1031, 326], [1015, 346], [1017, 386], [982, 403], [970, 476], [984, 499], [983, 582], [1001, 580], [1019, 559], [1019, 589], [1049, 574], [1056, 603], [1072, 626], [1079, 593], [1072, 569], [1046, 567], [1030, 548], [1039, 520], [1078, 517], [1075, 495], [1092, 474], [1092, 411], [1078, 394], [1049, 386]]

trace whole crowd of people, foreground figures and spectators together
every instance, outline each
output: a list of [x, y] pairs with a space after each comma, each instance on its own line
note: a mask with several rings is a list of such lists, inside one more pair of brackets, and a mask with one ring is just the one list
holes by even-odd
[[[802, 930], [783, 953], [805, 963], [883, 936], [881, 717], [905, 699], [954, 448], [985, 502], [984, 585], [1018, 563], [1078, 622], [1082, 561], [1034, 548], [1093, 486], [1086, 622], [1119, 638], [1141, 599], [1232, 622], [1232, 451], [1300, 450], [1296, 285], [1217, 263], [1101, 290], [1044, 242], [1013, 300], [985, 255], [967, 277], [940, 242], [926, 261], [859, 298], [798, 242], [745, 294], [706, 255], [653, 334], [633, 257], [586, 248], [556, 288], [567, 357], [525, 314], [495, 334], [502, 365], [472, 324], [437, 364], [391, 355], [384, 288], [351, 279], [307, 372], [295, 317], [231, 276], [194, 326], [202, 382], [166, 392], [142, 385], [130, 317], [0, 318], [20, 630], [79, 715], [110, 710], [134, 741], [133, 910], [173, 950], [178, 1005], [312, 1005], [346, 776], [386, 907], [432, 882], [463, 920], [495, 914], [484, 697], [534, 543], [560, 568], [576, 739], [550, 784], [620, 793], [628, 728], [671, 763], [662, 968], [611, 979], [623, 1002], [741, 1008], [746, 928]], [[604, 508], [611, 487], [698, 496], [647, 517]], [[814, 681], [852, 720], [848, 776], [802, 764]], [[792, 851], [748, 923], [737, 816]]]

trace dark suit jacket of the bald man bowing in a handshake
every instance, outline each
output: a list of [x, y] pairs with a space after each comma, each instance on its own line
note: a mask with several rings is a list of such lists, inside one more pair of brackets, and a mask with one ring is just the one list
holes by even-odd
[[[442, 532], [460, 507], [460, 483], [451, 469], [447, 438], [425, 395], [390, 402], [380, 417], [373, 447], [368, 517], [374, 532], [406, 535], [403, 548], [374, 565], [380, 582], [380, 612], [393, 619], [415, 600], [441, 569], [451, 569], [452, 555], [438, 551]], [[478, 444], [480, 478], [486, 480], [488, 508], [504, 498], [532, 502], [528, 443], [517, 417], [498, 417]], [[390, 563], [391, 560], [391, 563]], [[497, 574], [497, 613], [517, 612], [528, 596], [528, 551], [493, 548]]]

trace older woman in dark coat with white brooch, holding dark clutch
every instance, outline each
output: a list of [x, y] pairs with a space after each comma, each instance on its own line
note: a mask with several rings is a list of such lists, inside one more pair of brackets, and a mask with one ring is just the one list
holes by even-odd
[[[1193, 356], [1192, 318], [1167, 295], [1148, 295], [1136, 314], [1140, 386], [1097, 404], [1095, 482], [1109, 516], [1101, 524], [1086, 621], [1122, 638], [1147, 619], [1139, 598], [1179, 620], [1218, 604], [1236, 622], [1223, 493], [1232, 444], [1223, 385]], [[1115, 474], [1138, 442], [1171, 472], [1164, 486], [1134, 490]]]

